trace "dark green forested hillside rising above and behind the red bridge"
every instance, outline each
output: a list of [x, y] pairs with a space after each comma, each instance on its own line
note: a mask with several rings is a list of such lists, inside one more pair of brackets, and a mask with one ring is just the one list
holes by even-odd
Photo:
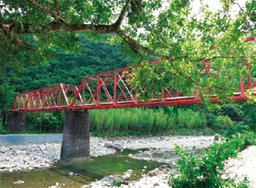
[[18, 80], [11, 82], [15, 91], [20, 93], [57, 83], [79, 86], [83, 77], [125, 67], [131, 60], [121, 55], [119, 44], [92, 43], [83, 35], [79, 39], [79, 54], [58, 52], [59, 57], [49, 65], [32, 66], [17, 73]]

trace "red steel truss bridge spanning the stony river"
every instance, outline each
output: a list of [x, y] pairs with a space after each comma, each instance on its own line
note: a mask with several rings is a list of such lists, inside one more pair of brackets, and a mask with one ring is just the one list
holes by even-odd
[[[247, 41], [253, 41], [254, 37], [247, 37]], [[148, 64], [157, 63], [159, 60], [153, 60]], [[208, 61], [202, 62], [209, 77], [211, 69]], [[247, 71], [249, 64], [246, 62]], [[200, 72], [201, 72], [200, 71]], [[195, 85], [195, 92], [191, 96], [180, 93], [175, 88], [163, 88], [161, 99], [154, 95], [151, 100], [140, 101], [137, 99], [136, 92], [132, 89], [132, 84], [128, 82], [131, 79], [132, 68], [130, 66], [97, 74], [90, 77], [84, 77], [79, 88], [66, 83], [59, 83], [46, 88], [38, 88], [25, 93], [17, 94], [11, 112], [29, 112], [29, 111], [70, 111], [70, 110], [93, 110], [93, 109], [113, 109], [113, 108], [131, 108], [148, 107], [162, 105], [198, 105], [201, 99], [198, 97], [198, 86]], [[218, 71], [212, 77], [218, 77]], [[229, 79], [228, 77], [227, 79]], [[247, 90], [256, 88], [256, 81], [250, 82], [240, 77], [240, 85], [237, 86], [236, 93], [230, 96], [234, 102], [247, 101]], [[141, 87], [142, 91], [144, 87]], [[255, 94], [256, 97], [256, 94]], [[212, 94], [210, 99], [212, 103], [219, 103], [216, 94]]]

